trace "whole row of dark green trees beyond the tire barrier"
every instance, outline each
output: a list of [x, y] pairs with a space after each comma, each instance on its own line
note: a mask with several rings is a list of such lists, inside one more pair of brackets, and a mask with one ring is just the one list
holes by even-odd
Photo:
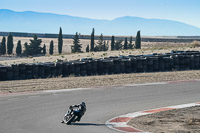
[[[11, 34], [8, 35], [7, 38], [7, 47], [6, 47], [6, 38], [3, 37], [0, 43], [0, 55], [13, 54], [13, 36]], [[124, 42], [124, 43], [123, 43]], [[38, 39], [35, 35], [33, 39], [30, 40], [30, 44], [27, 42], [24, 44], [24, 51], [22, 51], [21, 41], [19, 40], [16, 47], [16, 54], [17, 55], [38, 55], [38, 54], [46, 54], [46, 45], [44, 44], [43, 47], [41, 46], [42, 40]], [[63, 35], [62, 35], [62, 28], [60, 27], [59, 35], [58, 35], [58, 53], [62, 54], [63, 48]], [[125, 38], [124, 40], [115, 40], [115, 36], [111, 37], [111, 50], [121, 50], [121, 49], [140, 49], [141, 48], [141, 37], [140, 31], [137, 32], [135, 45], [133, 44], [132, 36], [129, 38]], [[99, 36], [98, 41], [95, 43], [95, 30], [92, 29], [91, 33], [91, 40], [90, 45], [88, 44], [86, 47], [86, 52], [98, 52], [98, 51], [107, 51], [109, 49], [109, 41], [105, 41], [103, 34]], [[82, 44], [80, 43], [79, 34], [76, 32], [73, 38], [73, 45], [71, 46], [72, 53], [81, 53], [82, 51]], [[50, 42], [49, 47], [49, 54], [54, 54], [54, 42]]]

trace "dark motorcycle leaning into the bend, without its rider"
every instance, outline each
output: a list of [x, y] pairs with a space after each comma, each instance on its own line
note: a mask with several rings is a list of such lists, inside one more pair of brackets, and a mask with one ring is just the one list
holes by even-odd
[[70, 125], [72, 122], [76, 122], [80, 113], [81, 112], [78, 107], [69, 108], [61, 123]]

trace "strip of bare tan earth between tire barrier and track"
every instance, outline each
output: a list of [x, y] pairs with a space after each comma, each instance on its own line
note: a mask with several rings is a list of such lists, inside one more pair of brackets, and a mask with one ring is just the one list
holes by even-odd
[[30, 92], [70, 88], [91, 88], [102, 86], [118, 86], [125, 84], [140, 84], [195, 79], [200, 79], [200, 71], [133, 73], [87, 77], [59, 77], [49, 79], [1, 81], [0, 93], [14, 93], [26, 91]]

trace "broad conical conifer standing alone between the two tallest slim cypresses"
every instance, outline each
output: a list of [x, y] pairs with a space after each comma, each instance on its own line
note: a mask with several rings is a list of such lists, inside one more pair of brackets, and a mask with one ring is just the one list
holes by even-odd
[[78, 37], [78, 32], [76, 32], [76, 35], [74, 36], [73, 45], [71, 46], [72, 53], [82, 52], [81, 48], [82, 47], [81, 47], [80, 40]]

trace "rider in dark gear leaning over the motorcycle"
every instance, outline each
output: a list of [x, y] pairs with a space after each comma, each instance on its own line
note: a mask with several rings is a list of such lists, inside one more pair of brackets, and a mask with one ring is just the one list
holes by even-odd
[[[77, 108], [79, 109], [79, 111], [80, 111], [80, 113], [78, 114], [78, 117], [75, 119], [75, 121], [80, 121], [81, 118], [82, 118], [82, 116], [83, 116], [83, 115], [85, 114], [85, 112], [86, 112], [86, 104], [85, 104], [85, 102], [81, 102], [81, 104], [79, 104], [79, 105], [71, 105], [71, 106], [69, 107], [70, 111], [73, 111], [73, 108], [74, 108], [74, 107], [77, 107]], [[61, 123], [64, 123], [64, 120], [61, 121]]]

